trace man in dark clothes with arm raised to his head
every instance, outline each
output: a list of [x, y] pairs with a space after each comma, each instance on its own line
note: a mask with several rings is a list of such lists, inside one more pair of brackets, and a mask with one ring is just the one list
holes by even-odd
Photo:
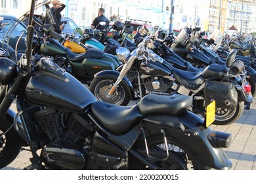
[[[49, 7], [49, 4], [53, 4], [53, 7]], [[45, 24], [51, 24], [54, 27], [54, 31], [56, 33], [61, 33], [61, 14], [60, 12], [66, 7], [63, 3], [60, 3], [60, 1], [49, 1], [47, 5], [45, 5], [47, 8], [47, 18], [45, 20]]]

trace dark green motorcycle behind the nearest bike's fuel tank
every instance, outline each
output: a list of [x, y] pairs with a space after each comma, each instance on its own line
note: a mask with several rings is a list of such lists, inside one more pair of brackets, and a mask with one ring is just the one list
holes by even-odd
[[[34, 17], [34, 21], [39, 24], [39, 27], [44, 29], [52, 29], [51, 25], [43, 25], [42, 22]], [[104, 69], [115, 70], [122, 63], [116, 56], [106, 54], [100, 50], [87, 48], [85, 52], [76, 54], [62, 45], [60, 42], [64, 38], [60, 35], [56, 38], [46, 36], [44, 33], [37, 33], [33, 37], [33, 55], [49, 56], [54, 58], [54, 61], [63, 69], [66, 69], [75, 78], [80, 80], [83, 84], [90, 84], [95, 73]], [[75, 43], [75, 39], [73, 39]], [[85, 48], [83, 44], [77, 43], [80, 48]], [[74, 48], [74, 47], [72, 47]]]

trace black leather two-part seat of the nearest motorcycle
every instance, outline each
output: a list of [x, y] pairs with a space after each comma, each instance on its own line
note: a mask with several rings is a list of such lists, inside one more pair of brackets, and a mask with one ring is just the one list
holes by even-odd
[[91, 111], [106, 129], [122, 134], [139, 124], [146, 116], [178, 116], [186, 112], [191, 105], [192, 97], [189, 96], [150, 94], [143, 97], [137, 105], [127, 107], [98, 101], [91, 104]]

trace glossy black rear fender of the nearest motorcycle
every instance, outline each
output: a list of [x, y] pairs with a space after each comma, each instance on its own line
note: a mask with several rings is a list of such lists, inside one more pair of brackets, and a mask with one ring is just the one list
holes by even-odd
[[[159, 120], [161, 119], [161, 120]], [[148, 116], [144, 118], [147, 131], [165, 132], [182, 143], [189, 146], [192, 152], [198, 156], [205, 165], [214, 169], [229, 169], [232, 162], [226, 156], [223, 148], [214, 148], [209, 141], [209, 135], [213, 130], [203, 127], [203, 120], [192, 112], [186, 112], [181, 116]], [[230, 138], [231, 135], [226, 133]]]

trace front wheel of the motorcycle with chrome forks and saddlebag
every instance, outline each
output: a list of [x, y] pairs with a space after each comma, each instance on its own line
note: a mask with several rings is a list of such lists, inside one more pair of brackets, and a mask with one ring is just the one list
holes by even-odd
[[98, 101], [126, 106], [131, 101], [131, 96], [129, 88], [127, 88], [123, 82], [120, 82], [115, 92], [110, 97], [107, 97], [107, 94], [116, 82], [116, 79], [117, 78], [112, 76], [94, 78], [90, 84], [90, 91], [95, 95]]

